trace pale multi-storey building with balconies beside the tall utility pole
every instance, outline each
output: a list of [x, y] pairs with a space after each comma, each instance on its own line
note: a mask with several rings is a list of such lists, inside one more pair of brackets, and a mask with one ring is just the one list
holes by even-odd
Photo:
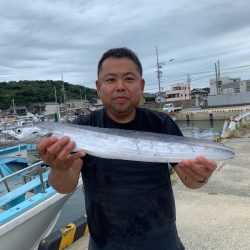
[[171, 90], [165, 92], [167, 102], [190, 100], [190, 83], [177, 83], [171, 86]]

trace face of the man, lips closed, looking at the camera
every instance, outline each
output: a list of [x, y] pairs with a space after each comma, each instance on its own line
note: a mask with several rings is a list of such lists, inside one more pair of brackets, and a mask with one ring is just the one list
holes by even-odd
[[108, 58], [102, 64], [96, 88], [108, 113], [122, 117], [134, 112], [139, 104], [144, 80], [132, 60]]

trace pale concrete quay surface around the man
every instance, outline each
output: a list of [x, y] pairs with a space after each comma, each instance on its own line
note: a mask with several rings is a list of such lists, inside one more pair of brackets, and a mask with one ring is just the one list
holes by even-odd
[[[247, 250], [250, 246], [250, 138], [223, 141], [236, 157], [218, 163], [201, 189], [185, 188], [174, 174], [177, 228], [186, 250]], [[67, 249], [88, 249], [84, 237]], [[154, 249], [152, 249], [154, 250]]]

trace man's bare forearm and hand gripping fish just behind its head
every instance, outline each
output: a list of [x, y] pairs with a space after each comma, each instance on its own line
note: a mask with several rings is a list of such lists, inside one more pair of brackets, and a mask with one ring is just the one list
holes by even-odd
[[49, 137], [37, 145], [41, 159], [51, 168], [49, 183], [59, 193], [70, 193], [78, 184], [83, 165], [81, 157], [86, 153], [81, 151], [72, 154], [74, 148], [75, 142], [69, 137]]

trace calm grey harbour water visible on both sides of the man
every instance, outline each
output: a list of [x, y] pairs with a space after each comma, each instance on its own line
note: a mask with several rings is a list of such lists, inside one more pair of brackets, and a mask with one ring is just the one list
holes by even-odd
[[[211, 139], [221, 135], [224, 120], [216, 121], [179, 121], [177, 122], [185, 136]], [[77, 190], [64, 205], [59, 220], [53, 231], [71, 223], [85, 215], [84, 195], [82, 190]]]

